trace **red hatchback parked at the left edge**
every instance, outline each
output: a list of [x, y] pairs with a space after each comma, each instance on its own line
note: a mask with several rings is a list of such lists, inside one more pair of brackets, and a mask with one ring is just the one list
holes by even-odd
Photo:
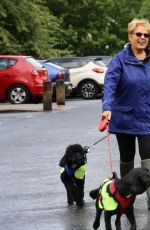
[[27, 103], [43, 95], [48, 72], [31, 56], [0, 55], [0, 100]]

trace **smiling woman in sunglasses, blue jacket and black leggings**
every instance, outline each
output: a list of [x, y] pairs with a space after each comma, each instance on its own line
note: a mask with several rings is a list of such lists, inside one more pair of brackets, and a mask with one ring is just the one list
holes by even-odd
[[[134, 168], [138, 140], [141, 165], [150, 170], [150, 24], [133, 19], [128, 24], [129, 43], [116, 54], [105, 76], [102, 117], [116, 134], [120, 174]], [[150, 189], [147, 190], [150, 210]]]

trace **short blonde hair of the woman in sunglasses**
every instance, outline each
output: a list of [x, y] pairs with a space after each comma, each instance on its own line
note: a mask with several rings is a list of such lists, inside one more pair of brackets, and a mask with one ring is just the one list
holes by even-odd
[[131, 22], [128, 23], [128, 33], [133, 33], [137, 26], [144, 26], [148, 29], [148, 33], [150, 33], [150, 23], [148, 19], [138, 19], [134, 18]]

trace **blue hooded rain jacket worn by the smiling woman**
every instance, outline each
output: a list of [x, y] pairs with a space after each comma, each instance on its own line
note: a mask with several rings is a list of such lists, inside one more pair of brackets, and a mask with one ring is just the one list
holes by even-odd
[[150, 134], [150, 50], [139, 61], [128, 44], [105, 75], [103, 111], [112, 111], [110, 133]]

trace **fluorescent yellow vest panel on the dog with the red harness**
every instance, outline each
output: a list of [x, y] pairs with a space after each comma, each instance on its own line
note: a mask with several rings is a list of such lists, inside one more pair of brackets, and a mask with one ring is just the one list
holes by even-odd
[[109, 193], [107, 192], [107, 186], [111, 183], [112, 181], [109, 179], [104, 183], [102, 188], [100, 189], [100, 194], [101, 194], [101, 199], [99, 200], [99, 208], [100, 209], [105, 209], [107, 211], [112, 211], [115, 210], [118, 206], [118, 203], [114, 200], [113, 197], [109, 196]]

